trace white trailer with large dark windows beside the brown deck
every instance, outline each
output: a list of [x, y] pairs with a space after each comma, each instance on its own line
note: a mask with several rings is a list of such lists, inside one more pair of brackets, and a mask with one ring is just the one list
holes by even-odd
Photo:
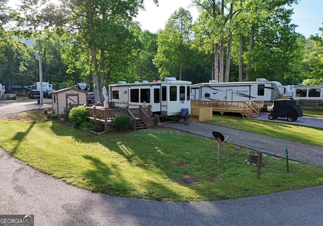
[[121, 108], [150, 105], [153, 115], [181, 117], [183, 111], [189, 114], [191, 110], [191, 84], [176, 78], [158, 82], [118, 82], [108, 86], [109, 101]]

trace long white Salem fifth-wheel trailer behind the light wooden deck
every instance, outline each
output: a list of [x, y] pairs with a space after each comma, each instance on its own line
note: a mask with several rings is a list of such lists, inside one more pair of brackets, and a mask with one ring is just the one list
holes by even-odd
[[273, 102], [284, 95], [280, 82], [257, 79], [256, 82], [198, 83], [191, 86], [191, 99]]

